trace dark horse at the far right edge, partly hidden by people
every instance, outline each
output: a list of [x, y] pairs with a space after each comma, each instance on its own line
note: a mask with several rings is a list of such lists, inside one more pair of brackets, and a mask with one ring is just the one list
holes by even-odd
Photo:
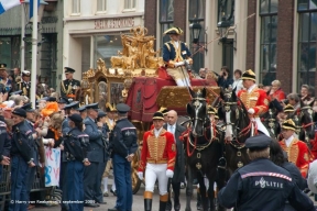
[[292, 119], [297, 127], [298, 140], [305, 142], [311, 149], [310, 142], [315, 138], [315, 121], [316, 114], [313, 110], [314, 101], [310, 104], [305, 104], [300, 100], [300, 109], [289, 114], [287, 119]]

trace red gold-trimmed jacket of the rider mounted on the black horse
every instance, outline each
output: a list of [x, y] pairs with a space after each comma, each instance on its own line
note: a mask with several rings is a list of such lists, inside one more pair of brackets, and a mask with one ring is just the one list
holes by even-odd
[[238, 98], [241, 99], [247, 110], [254, 109], [254, 116], [259, 116], [269, 110], [266, 92], [255, 87], [250, 93], [248, 90], [240, 90]]

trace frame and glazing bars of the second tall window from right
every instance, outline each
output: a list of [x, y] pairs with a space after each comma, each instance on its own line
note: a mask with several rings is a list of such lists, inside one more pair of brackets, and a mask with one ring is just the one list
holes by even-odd
[[[260, 16], [260, 22], [261, 22], [261, 30], [260, 30], [260, 68], [259, 68], [259, 81], [261, 84], [264, 85], [264, 79], [267, 75], [267, 79], [270, 80], [275, 80], [276, 79], [276, 70], [277, 68], [275, 67], [272, 67], [271, 65], [274, 63], [274, 57], [275, 57], [275, 63], [277, 63], [277, 20], [278, 20], [278, 14], [277, 14], [277, 10], [278, 10], [278, 4], [277, 4], [277, 10], [276, 11], [271, 11], [271, 0], [267, 0], [269, 1], [269, 8], [267, 8], [267, 11], [265, 12], [262, 12], [261, 11], [261, 1], [260, 1], [260, 4], [259, 4], [259, 16]], [[265, 30], [269, 30], [270, 32], [270, 37], [269, 37], [269, 42], [266, 42], [263, 37], [263, 30], [264, 27], [267, 27], [266, 25], [263, 25], [263, 20], [266, 19], [266, 18], [270, 18], [270, 23], [272, 23], [273, 19], [276, 19], [276, 26], [275, 27], [271, 27], [271, 29], [265, 29]], [[275, 42], [272, 42], [272, 34], [273, 34], [273, 30], [275, 29]], [[275, 55], [274, 57], [272, 57], [272, 46], [275, 44]], [[263, 55], [263, 47], [264, 46], [269, 46], [269, 67], [266, 67], [266, 71], [263, 71], [264, 70], [264, 66], [263, 64], [265, 63], [265, 60], [263, 59], [264, 55]], [[275, 64], [275, 66], [277, 66], [277, 64]], [[272, 77], [271, 75], [269, 75], [270, 73], [273, 73], [274, 74], [274, 77]], [[271, 82], [272, 82], [271, 81]], [[265, 84], [264, 86], [271, 86], [271, 82], [270, 84]]]

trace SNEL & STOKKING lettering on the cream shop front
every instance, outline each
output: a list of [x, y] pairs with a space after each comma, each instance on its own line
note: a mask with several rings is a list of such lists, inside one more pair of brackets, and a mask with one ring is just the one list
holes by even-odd
[[95, 30], [133, 27], [134, 18], [95, 20]]

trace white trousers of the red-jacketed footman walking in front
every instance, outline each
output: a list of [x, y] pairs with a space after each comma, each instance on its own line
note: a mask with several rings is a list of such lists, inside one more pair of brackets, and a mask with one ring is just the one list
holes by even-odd
[[166, 177], [167, 164], [146, 164], [145, 168], [145, 191], [154, 192], [155, 181], [158, 181], [160, 195], [167, 193]]

